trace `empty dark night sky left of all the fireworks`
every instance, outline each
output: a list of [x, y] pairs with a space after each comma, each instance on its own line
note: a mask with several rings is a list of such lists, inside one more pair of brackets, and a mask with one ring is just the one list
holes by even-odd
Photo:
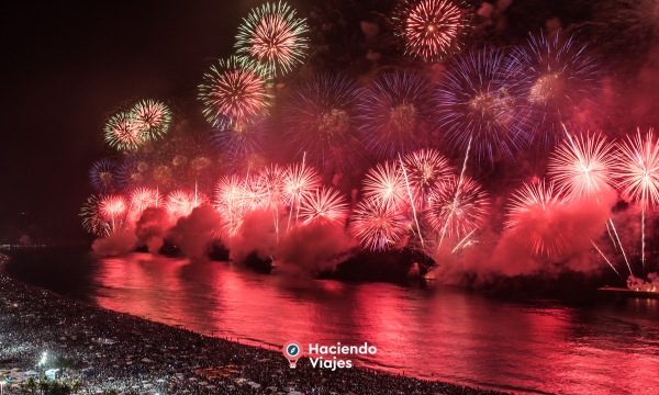
[[16, 213], [48, 236], [83, 235], [87, 171], [105, 113], [142, 97], [193, 94], [232, 53], [258, 0], [2, 2], [0, 239]]

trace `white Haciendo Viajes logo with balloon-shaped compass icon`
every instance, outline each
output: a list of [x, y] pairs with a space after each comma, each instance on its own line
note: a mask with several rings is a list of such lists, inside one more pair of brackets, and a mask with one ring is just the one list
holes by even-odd
[[300, 357], [304, 354], [309, 357], [312, 368], [335, 371], [337, 369], [353, 368], [351, 358], [354, 356], [373, 356], [378, 352], [378, 349], [368, 342], [359, 346], [346, 346], [340, 342], [332, 346], [309, 343], [309, 347], [304, 349], [299, 341], [292, 340], [283, 345], [282, 351], [283, 357], [289, 360], [292, 369], [295, 368]]

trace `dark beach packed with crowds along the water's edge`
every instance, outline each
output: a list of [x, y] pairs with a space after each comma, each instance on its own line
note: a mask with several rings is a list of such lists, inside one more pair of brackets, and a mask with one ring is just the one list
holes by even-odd
[[[503, 394], [394, 375], [377, 370], [313, 369], [308, 358], [290, 369], [280, 351], [108, 311], [11, 278], [0, 253], [0, 369], [37, 370], [70, 358], [65, 380], [81, 393], [276, 394]], [[92, 374], [85, 375], [82, 371]], [[21, 390], [4, 387], [7, 394]], [[12, 392], [13, 391], [13, 392]]]

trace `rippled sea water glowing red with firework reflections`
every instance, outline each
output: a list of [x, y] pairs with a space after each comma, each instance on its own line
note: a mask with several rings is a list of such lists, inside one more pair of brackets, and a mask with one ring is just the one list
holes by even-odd
[[480, 386], [655, 394], [657, 301], [569, 307], [511, 303], [461, 289], [289, 280], [223, 262], [104, 259], [105, 307], [242, 342], [377, 347], [359, 364]]

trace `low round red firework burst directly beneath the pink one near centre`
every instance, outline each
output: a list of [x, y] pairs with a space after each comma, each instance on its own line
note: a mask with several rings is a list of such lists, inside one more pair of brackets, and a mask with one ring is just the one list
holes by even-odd
[[367, 199], [357, 204], [350, 217], [350, 232], [364, 248], [384, 250], [407, 234], [407, 222], [405, 215], [394, 206]]

